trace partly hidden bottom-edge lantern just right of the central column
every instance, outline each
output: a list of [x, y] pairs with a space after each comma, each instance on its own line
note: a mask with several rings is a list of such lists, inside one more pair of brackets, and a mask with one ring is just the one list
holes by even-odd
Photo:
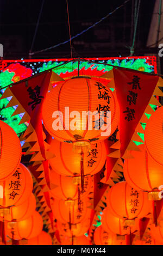
[[93, 240], [95, 245], [126, 245], [125, 240], [117, 240], [117, 236], [114, 233], [105, 231], [102, 225], [96, 228]]

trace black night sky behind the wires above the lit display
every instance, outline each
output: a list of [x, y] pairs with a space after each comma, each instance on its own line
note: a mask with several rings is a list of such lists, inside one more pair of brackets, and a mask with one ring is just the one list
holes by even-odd
[[[72, 40], [73, 57], [129, 56], [133, 39], [130, 0], [96, 27]], [[114, 10], [124, 0], [68, 0], [71, 36], [83, 31]], [[147, 36], [155, 0], [141, 0], [134, 55], [157, 53], [147, 48]], [[1, 0], [0, 43], [4, 59], [28, 58], [42, 0]], [[42, 50], [69, 39], [66, 0], [45, 0], [32, 51]], [[32, 58], [70, 57], [70, 42]]]

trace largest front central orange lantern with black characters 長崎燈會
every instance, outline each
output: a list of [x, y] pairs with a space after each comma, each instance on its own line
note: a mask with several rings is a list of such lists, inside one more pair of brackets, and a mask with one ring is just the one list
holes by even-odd
[[[103, 88], [104, 87], [104, 88]], [[107, 93], [109, 98], [104, 99], [101, 94]], [[108, 97], [107, 96], [107, 97]], [[109, 103], [108, 103], [109, 102]], [[90, 78], [73, 78], [59, 83], [54, 87], [51, 92], [46, 96], [42, 107], [42, 118], [43, 124], [46, 130], [59, 141], [89, 141], [91, 139], [105, 139], [109, 136], [101, 137], [101, 130], [89, 130], [88, 127], [91, 119], [82, 119], [82, 111], [97, 111], [99, 106], [109, 106], [109, 111], [111, 111], [111, 134], [116, 130], [118, 125], [118, 103], [115, 99], [114, 93], [111, 90], [101, 84], [99, 86], [98, 82]], [[72, 121], [73, 118], [69, 120], [69, 114], [65, 115], [65, 107], [69, 107], [69, 113], [72, 111], [78, 111], [80, 117], [77, 117], [77, 124], [80, 121], [80, 130], [69, 130], [68, 121]], [[102, 109], [100, 108], [102, 111]], [[106, 109], [105, 109], [106, 110]], [[60, 111], [63, 114], [63, 120], [61, 120], [63, 130], [53, 130], [52, 124], [54, 118], [52, 115], [54, 111]], [[90, 115], [89, 115], [90, 117]], [[68, 125], [68, 126], [67, 126]], [[110, 125], [110, 124], [109, 124]], [[84, 129], [83, 129], [84, 127]], [[67, 130], [65, 130], [67, 129]]]

